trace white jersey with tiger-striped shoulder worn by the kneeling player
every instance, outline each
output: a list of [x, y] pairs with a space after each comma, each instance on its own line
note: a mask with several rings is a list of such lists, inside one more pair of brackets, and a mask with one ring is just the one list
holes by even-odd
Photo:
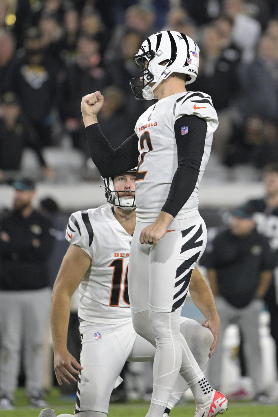
[[66, 239], [92, 259], [79, 285], [78, 316], [88, 322], [130, 320], [128, 260], [132, 236], [105, 204], [70, 216]]

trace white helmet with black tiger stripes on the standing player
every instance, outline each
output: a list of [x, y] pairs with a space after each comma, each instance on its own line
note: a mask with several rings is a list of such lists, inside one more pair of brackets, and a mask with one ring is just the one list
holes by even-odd
[[151, 35], [133, 58], [135, 65], [142, 67], [142, 74], [129, 82], [135, 98], [155, 98], [153, 90], [172, 73], [188, 74], [185, 84], [193, 83], [198, 75], [199, 52], [194, 40], [184, 33], [163, 30]]

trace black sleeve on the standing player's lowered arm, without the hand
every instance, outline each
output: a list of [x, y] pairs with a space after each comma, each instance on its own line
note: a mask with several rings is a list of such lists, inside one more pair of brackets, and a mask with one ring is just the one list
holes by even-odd
[[[181, 128], [188, 128], [186, 135]], [[205, 148], [208, 125], [198, 116], [182, 116], [175, 122], [175, 139], [178, 148], [178, 168], [171, 183], [168, 198], [162, 211], [175, 217], [194, 191]]]

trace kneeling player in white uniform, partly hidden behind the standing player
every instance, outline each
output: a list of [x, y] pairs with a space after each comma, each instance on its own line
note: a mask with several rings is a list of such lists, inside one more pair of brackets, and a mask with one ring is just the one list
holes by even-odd
[[[127, 271], [136, 221], [134, 180], [135, 170], [104, 178], [110, 204], [70, 216], [66, 231], [70, 246], [53, 288], [55, 374], [60, 385], [76, 381], [74, 374], [78, 375], [75, 414], [81, 412], [82, 417], [105, 417], [125, 361], [149, 361], [155, 355], [155, 342], [150, 344], [133, 329], [128, 297]], [[70, 299], [78, 285], [80, 364], [67, 350]], [[181, 317], [180, 330], [203, 369], [218, 342], [220, 321], [210, 288], [197, 269], [190, 292], [207, 321], [202, 326]], [[178, 376], [166, 413], [187, 388]]]

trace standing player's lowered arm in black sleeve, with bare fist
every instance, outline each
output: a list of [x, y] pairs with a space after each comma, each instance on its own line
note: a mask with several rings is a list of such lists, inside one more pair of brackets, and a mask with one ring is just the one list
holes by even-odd
[[[183, 126], [188, 127], [186, 135], [181, 133]], [[207, 128], [206, 121], [198, 116], [185, 115], [175, 121], [178, 168], [173, 176], [167, 200], [157, 219], [153, 224], [145, 227], [140, 234], [141, 244], [149, 242], [158, 244], [170, 222], [193, 193], [200, 173]]]

